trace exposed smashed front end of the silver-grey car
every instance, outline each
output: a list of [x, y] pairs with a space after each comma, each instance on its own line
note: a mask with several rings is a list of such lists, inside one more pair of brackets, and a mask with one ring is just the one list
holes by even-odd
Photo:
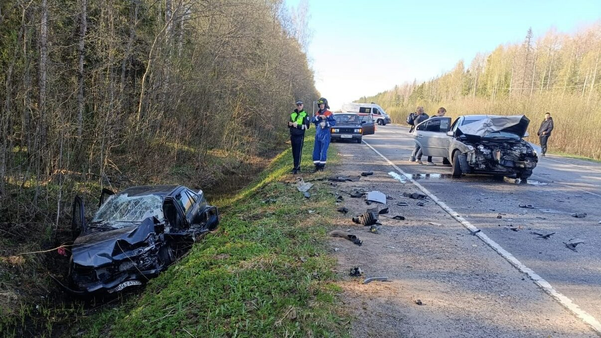
[[468, 164], [475, 171], [520, 173], [524, 170], [532, 170], [538, 162], [534, 149], [523, 140], [480, 140], [470, 145], [474, 150], [466, 155]]

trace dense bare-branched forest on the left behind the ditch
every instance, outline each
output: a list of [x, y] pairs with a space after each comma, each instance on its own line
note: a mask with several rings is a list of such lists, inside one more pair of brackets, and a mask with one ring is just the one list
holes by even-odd
[[316, 97], [306, 20], [281, 0], [2, 1], [0, 198], [57, 173], [218, 182]]

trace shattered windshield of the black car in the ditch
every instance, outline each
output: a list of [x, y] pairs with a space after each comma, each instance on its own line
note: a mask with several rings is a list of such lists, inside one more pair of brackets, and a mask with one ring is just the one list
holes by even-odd
[[139, 223], [148, 217], [163, 221], [163, 199], [157, 195], [128, 196], [111, 195], [98, 209], [91, 223], [103, 223], [113, 226], [115, 223]]

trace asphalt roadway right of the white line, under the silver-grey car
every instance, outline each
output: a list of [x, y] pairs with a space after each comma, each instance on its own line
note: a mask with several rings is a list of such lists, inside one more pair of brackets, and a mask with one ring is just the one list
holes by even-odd
[[[551, 155], [540, 159], [529, 184], [524, 185], [513, 179], [498, 182], [483, 175], [452, 178], [450, 167], [442, 165], [439, 158], [434, 159], [435, 166], [409, 162], [414, 142], [408, 129], [401, 126], [379, 126], [376, 135], [364, 137], [364, 141], [451, 212], [481, 229], [508, 256], [531, 269], [531, 277], [542, 277], [538, 284], [548, 282], [546, 292], [557, 290], [555, 298], [563, 306], [572, 307], [574, 316], [590, 315], [589, 324], [599, 324], [601, 164]], [[361, 149], [373, 153], [370, 147]], [[423, 160], [425, 163], [426, 158]], [[587, 216], [571, 216], [579, 212]], [[532, 232], [555, 235], [542, 239]], [[572, 251], [563, 244], [570, 239], [581, 239], [584, 244], [578, 245], [577, 252]]]

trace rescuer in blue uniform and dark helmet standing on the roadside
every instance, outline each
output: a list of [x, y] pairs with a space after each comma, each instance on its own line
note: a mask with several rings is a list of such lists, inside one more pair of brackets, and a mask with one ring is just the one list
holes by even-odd
[[315, 113], [313, 118], [311, 118], [311, 122], [315, 123], [315, 128], [317, 129], [315, 134], [315, 145], [313, 146], [314, 173], [323, 170], [323, 168], [326, 167], [328, 147], [330, 145], [330, 127], [336, 125], [334, 114], [328, 110], [330, 108], [328, 100], [321, 97], [317, 100], [317, 106], [319, 107], [319, 110]]

